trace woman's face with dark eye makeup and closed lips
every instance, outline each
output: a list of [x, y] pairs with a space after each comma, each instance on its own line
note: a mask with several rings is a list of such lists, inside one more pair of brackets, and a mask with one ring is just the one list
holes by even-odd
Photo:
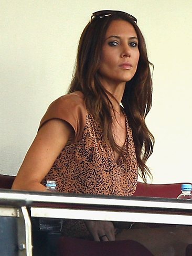
[[113, 20], [106, 31], [99, 73], [104, 86], [130, 81], [140, 52], [134, 27], [125, 20]]

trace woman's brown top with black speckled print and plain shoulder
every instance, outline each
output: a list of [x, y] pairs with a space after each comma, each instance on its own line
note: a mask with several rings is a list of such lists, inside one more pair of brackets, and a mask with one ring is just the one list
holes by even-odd
[[62, 193], [133, 195], [138, 165], [127, 118], [123, 156], [118, 162], [115, 162], [111, 145], [103, 140], [100, 124], [86, 110], [82, 92], [66, 94], [52, 102], [39, 129], [51, 119], [68, 122], [74, 136], [62, 149], [42, 184], [46, 180], [56, 180], [57, 190]]

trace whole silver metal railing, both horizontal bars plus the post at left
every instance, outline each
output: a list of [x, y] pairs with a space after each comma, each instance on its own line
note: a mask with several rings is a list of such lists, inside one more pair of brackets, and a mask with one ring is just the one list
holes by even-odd
[[17, 219], [18, 256], [32, 256], [31, 218], [192, 225], [192, 201], [0, 189], [0, 216]]

